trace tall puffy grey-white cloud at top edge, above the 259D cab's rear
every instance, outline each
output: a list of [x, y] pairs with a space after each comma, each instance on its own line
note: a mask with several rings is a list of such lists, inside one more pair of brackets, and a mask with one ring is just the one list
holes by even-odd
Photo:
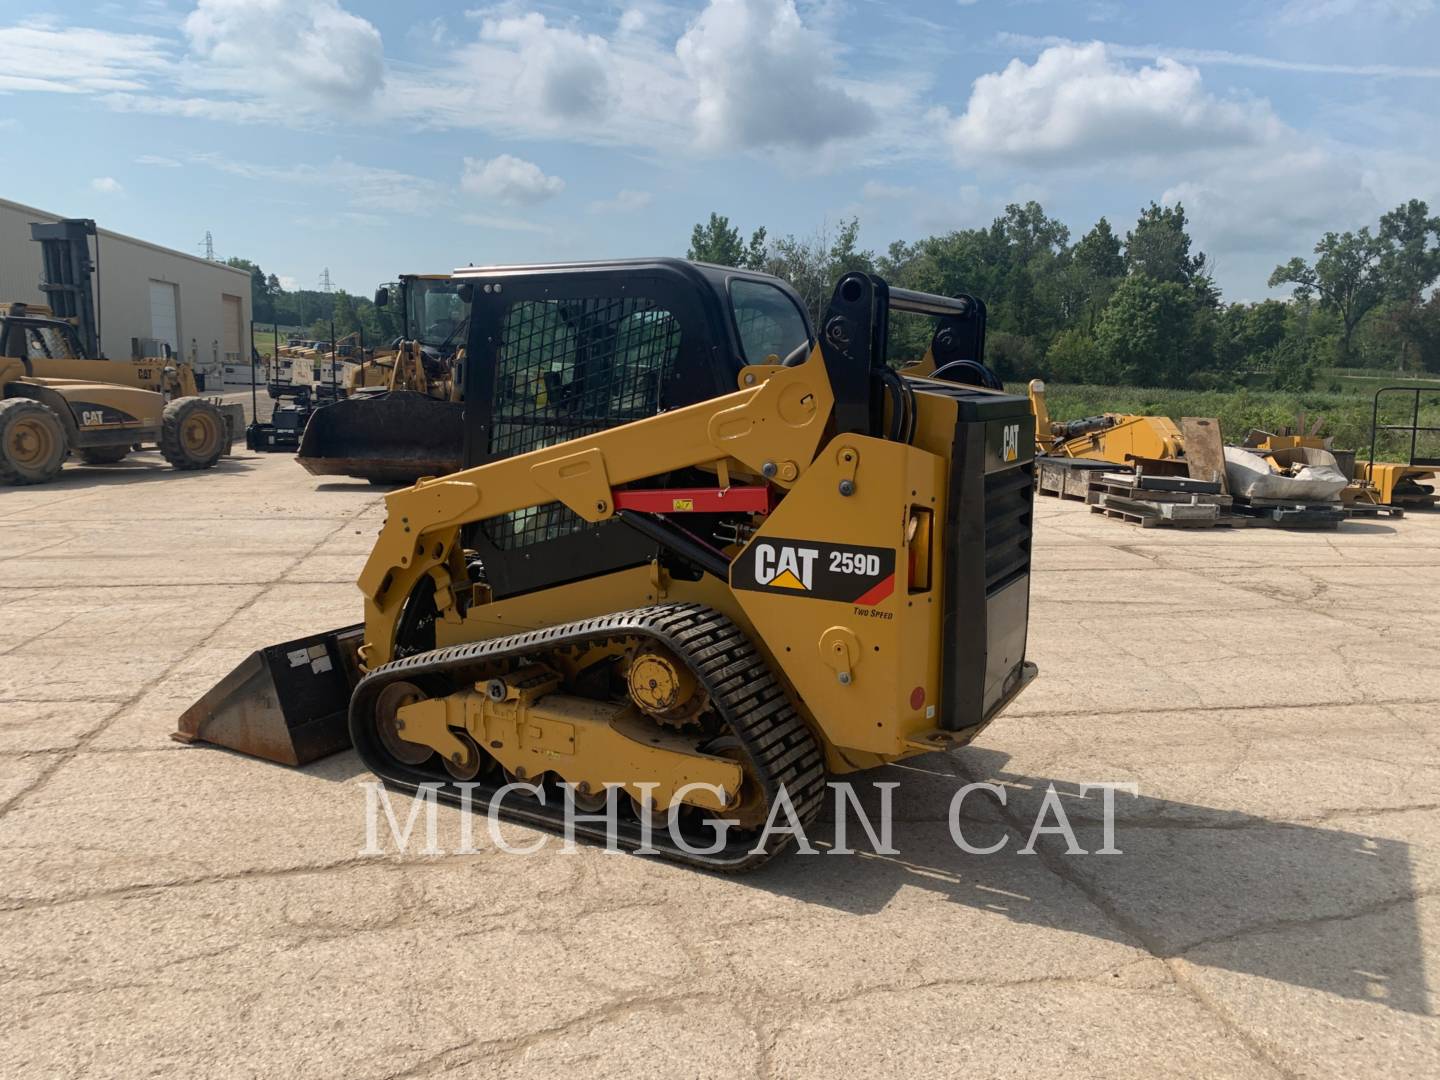
[[698, 95], [700, 145], [814, 148], [873, 128], [870, 105], [832, 78], [832, 53], [793, 0], [710, 0], [675, 45]]

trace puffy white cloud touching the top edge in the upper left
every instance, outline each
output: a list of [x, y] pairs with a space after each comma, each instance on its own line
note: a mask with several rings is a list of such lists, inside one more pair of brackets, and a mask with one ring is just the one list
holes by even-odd
[[384, 84], [380, 32], [338, 0], [199, 0], [184, 33], [196, 86], [350, 108]]

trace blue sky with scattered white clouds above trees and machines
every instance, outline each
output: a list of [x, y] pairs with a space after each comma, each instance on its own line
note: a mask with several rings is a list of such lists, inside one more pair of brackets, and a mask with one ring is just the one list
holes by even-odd
[[3, 0], [0, 196], [357, 292], [681, 255], [710, 210], [883, 248], [1181, 200], [1257, 300], [1440, 206], [1436, 45], [1437, 0]]

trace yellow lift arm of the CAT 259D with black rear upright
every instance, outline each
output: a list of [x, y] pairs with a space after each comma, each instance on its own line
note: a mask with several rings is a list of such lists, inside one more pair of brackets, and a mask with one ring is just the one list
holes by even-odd
[[730, 395], [449, 477], [422, 478], [387, 495], [386, 524], [359, 579], [372, 628], [364, 664], [393, 658], [405, 602], [426, 575], [435, 579], [441, 616], [454, 618], [452, 586], [465, 579], [459, 540], [468, 524], [547, 503], [562, 503], [589, 523], [606, 521], [616, 516], [613, 488], [727, 461], [788, 490], [812, 465], [827, 435], [880, 435], [887, 400], [890, 438], [909, 441], [913, 393], [886, 366], [891, 310], [936, 318], [932, 353], [942, 361], [979, 366], [984, 304], [968, 295], [891, 289], [878, 276], [852, 272], [837, 282], [819, 340], [801, 364], [747, 364], [740, 389]]

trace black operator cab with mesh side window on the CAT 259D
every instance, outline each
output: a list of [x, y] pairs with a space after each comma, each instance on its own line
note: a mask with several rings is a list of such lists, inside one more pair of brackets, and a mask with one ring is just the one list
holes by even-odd
[[[467, 305], [467, 468], [732, 393], [744, 366], [815, 338], [785, 281], [684, 259], [465, 266], [442, 284]], [[482, 521], [468, 546], [497, 595], [552, 585], [556, 566], [579, 579], [655, 556], [624, 523], [560, 504]]]

